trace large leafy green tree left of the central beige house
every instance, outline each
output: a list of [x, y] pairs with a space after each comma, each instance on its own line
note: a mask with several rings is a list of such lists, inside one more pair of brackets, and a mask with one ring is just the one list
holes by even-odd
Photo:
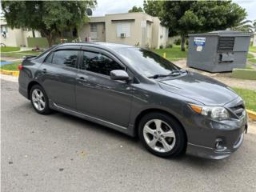
[[95, 0], [78, 2], [2, 1], [2, 10], [8, 26], [38, 30], [51, 46], [60, 31], [84, 24], [87, 19], [86, 9], [94, 8], [95, 5]]

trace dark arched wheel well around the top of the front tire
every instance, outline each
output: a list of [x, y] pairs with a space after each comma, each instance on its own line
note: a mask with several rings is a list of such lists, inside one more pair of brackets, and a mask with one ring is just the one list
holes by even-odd
[[138, 114], [138, 117], [135, 120], [135, 124], [134, 124], [134, 135], [135, 137], [138, 136], [138, 123], [140, 122], [140, 120], [142, 119], [142, 117], [144, 117], [146, 114], [150, 114], [153, 112], [158, 112], [158, 113], [162, 113], [162, 114], [167, 114], [170, 117], [174, 118], [182, 127], [185, 136], [186, 136], [186, 142], [187, 142], [187, 135], [186, 135], [186, 130], [184, 129], [184, 126], [182, 126], [182, 123], [178, 120], [178, 118], [176, 118], [173, 114], [170, 114], [169, 112], [167, 112], [166, 110], [158, 110], [158, 109], [149, 109], [149, 110], [143, 110], [140, 114]]

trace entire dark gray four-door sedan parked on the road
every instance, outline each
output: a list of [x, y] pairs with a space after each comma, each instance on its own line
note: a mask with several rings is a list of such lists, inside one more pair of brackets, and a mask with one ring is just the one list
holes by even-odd
[[58, 110], [138, 136], [152, 154], [226, 158], [247, 115], [226, 85], [150, 50], [110, 43], [54, 46], [19, 66], [19, 92], [39, 114]]

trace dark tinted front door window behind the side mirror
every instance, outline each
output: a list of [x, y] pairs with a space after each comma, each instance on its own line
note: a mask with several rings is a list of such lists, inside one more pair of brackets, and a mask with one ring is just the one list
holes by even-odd
[[113, 59], [103, 54], [94, 52], [83, 52], [82, 70], [90, 70], [98, 74], [110, 75], [111, 70], [125, 70]]

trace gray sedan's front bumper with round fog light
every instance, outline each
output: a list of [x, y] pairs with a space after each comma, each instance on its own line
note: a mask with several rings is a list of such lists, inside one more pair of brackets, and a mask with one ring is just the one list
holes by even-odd
[[[226, 108], [242, 103], [241, 98], [226, 104]], [[247, 130], [246, 110], [235, 119], [222, 122], [203, 118], [194, 114], [186, 129], [188, 143], [186, 153], [202, 158], [227, 158], [242, 145], [244, 132]]]

